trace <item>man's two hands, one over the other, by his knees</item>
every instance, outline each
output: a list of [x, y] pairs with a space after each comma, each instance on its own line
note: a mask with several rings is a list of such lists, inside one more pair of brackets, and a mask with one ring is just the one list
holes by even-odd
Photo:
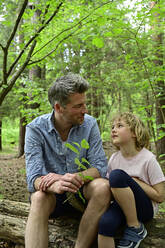
[[39, 189], [42, 191], [51, 191], [62, 194], [64, 192], [76, 193], [84, 184], [83, 179], [77, 174], [66, 173], [65, 175], [58, 175], [49, 173], [41, 178]]

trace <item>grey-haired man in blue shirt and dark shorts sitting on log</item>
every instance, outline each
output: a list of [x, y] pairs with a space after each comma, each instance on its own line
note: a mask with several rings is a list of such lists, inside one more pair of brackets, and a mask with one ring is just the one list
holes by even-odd
[[[48, 219], [70, 211], [66, 193], [80, 190], [88, 204], [82, 216], [75, 248], [90, 247], [96, 237], [98, 221], [109, 205], [107, 160], [102, 148], [96, 120], [87, 115], [86, 96], [89, 84], [82, 77], [69, 73], [56, 80], [49, 89], [51, 114], [40, 116], [27, 125], [25, 155], [27, 183], [31, 192], [31, 208], [26, 226], [25, 247], [48, 247]], [[78, 171], [76, 154], [65, 143], [81, 143], [86, 170]], [[84, 176], [93, 177], [86, 180]]]

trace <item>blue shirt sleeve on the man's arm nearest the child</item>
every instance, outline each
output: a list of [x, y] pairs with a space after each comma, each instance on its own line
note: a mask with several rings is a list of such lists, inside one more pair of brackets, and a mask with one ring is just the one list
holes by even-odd
[[107, 172], [107, 158], [96, 121], [90, 130], [88, 142], [90, 147], [87, 153], [87, 159], [93, 167], [98, 169], [100, 176], [105, 177]]

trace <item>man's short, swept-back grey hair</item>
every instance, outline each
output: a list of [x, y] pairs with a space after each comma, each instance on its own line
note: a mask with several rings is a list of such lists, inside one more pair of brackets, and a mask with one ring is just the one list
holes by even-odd
[[65, 107], [71, 94], [82, 94], [89, 88], [89, 83], [78, 74], [68, 73], [58, 78], [48, 90], [48, 99], [52, 107], [58, 102]]

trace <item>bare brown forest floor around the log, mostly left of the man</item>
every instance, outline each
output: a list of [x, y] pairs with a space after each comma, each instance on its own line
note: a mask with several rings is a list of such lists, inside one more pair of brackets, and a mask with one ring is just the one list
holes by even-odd
[[[11, 154], [0, 154], [0, 198], [2, 197], [13, 201], [28, 202], [24, 157], [16, 158]], [[165, 203], [163, 203], [163, 209], [165, 209]], [[159, 214], [159, 217], [165, 219], [163, 212]], [[14, 247], [12, 242], [0, 239], [0, 248]]]

